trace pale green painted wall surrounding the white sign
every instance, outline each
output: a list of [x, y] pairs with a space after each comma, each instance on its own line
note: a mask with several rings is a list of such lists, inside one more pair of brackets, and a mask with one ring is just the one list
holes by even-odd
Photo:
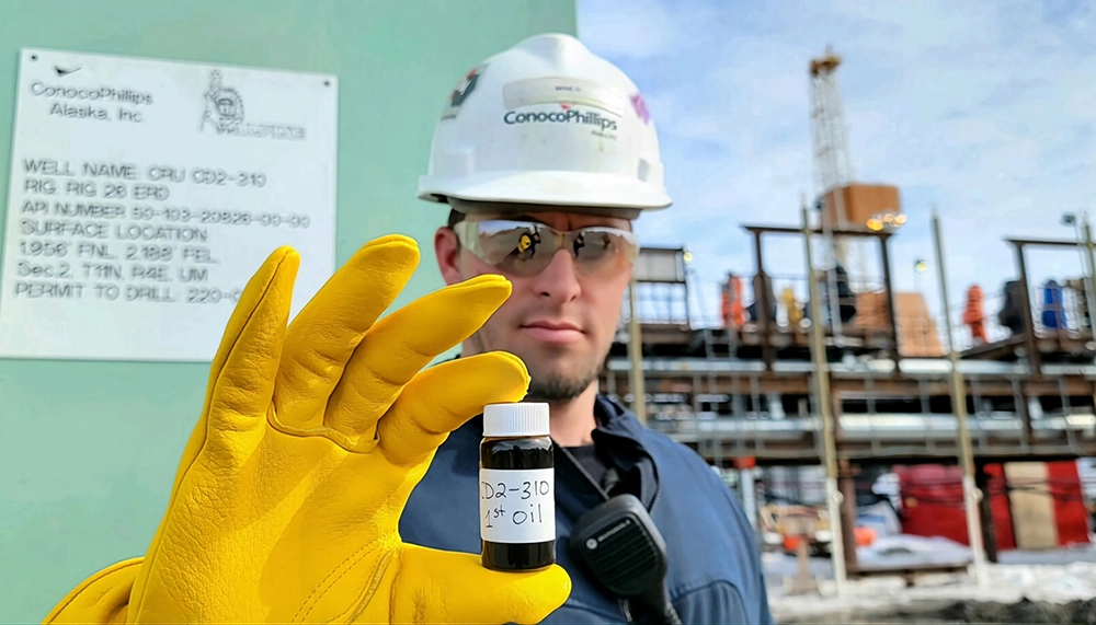
[[[484, 57], [551, 31], [574, 34], [573, 0], [0, 0], [0, 198], [20, 47], [332, 72], [338, 262], [381, 234], [414, 236], [406, 303], [442, 285], [431, 236], [446, 212], [414, 193], [445, 96]], [[0, 360], [0, 623], [41, 622], [88, 575], [144, 553], [206, 374]]]

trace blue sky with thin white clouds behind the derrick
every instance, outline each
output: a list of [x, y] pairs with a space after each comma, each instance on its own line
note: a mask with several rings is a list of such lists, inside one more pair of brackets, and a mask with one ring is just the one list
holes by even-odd
[[[797, 225], [813, 193], [811, 58], [843, 57], [854, 177], [898, 185], [899, 290], [938, 308], [929, 215], [943, 218], [951, 308], [1015, 275], [1006, 236], [1072, 238], [1063, 212], [1096, 202], [1096, 12], [1074, 1], [579, 0], [579, 36], [640, 86], [674, 207], [644, 216], [649, 244], [685, 245], [705, 316], [728, 271], [754, 270], [744, 222]], [[1096, 219], [1096, 210], [1091, 210]], [[802, 274], [802, 242], [765, 263]], [[876, 256], [868, 270], [878, 279]], [[1073, 250], [1028, 255], [1032, 281], [1082, 273]], [[858, 266], [852, 267], [855, 271]], [[987, 301], [986, 312], [998, 303]], [[958, 321], [957, 317], [952, 317]]]

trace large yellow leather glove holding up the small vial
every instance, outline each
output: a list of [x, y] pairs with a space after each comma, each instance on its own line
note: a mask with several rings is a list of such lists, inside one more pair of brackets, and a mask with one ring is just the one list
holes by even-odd
[[502, 352], [424, 369], [505, 301], [500, 276], [377, 321], [418, 263], [410, 239], [369, 243], [287, 328], [299, 257], [271, 255], [229, 320], [144, 560], [104, 569], [46, 622], [498, 624], [559, 607], [570, 579], [558, 566], [495, 572], [400, 540], [447, 433], [528, 384]]

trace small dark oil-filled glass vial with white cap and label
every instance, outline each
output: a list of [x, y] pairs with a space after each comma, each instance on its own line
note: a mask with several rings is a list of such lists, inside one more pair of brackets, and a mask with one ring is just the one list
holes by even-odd
[[490, 404], [480, 443], [483, 566], [537, 570], [556, 563], [556, 481], [548, 404]]

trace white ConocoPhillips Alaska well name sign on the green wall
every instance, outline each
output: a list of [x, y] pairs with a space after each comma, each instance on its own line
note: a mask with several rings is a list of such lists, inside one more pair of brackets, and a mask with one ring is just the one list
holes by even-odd
[[24, 49], [0, 356], [207, 361], [248, 279], [334, 270], [333, 76]]

